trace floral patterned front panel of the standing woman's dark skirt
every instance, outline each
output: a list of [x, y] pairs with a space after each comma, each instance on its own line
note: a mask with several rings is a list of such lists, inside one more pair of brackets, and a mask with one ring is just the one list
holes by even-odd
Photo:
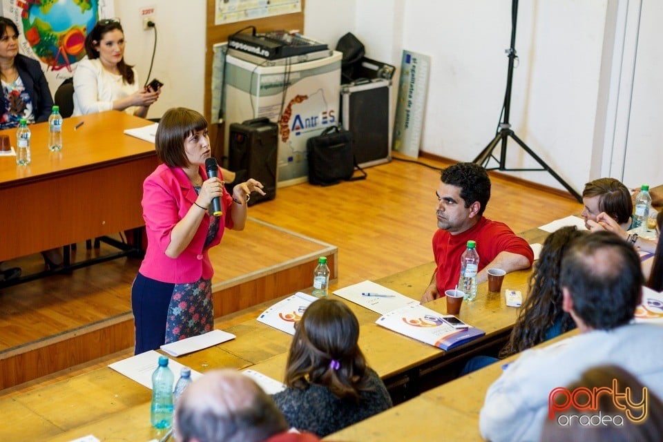
[[212, 281], [200, 278], [191, 284], [175, 284], [166, 319], [166, 344], [213, 329]]

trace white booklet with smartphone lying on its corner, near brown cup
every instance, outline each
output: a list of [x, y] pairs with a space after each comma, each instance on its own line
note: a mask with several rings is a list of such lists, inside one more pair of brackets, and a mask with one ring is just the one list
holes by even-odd
[[443, 350], [458, 347], [486, 334], [483, 330], [472, 326], [456, 329], [444, 320], [450, 316], [453, 315], [439, 314], [423, 305], [408, 305], [402, 309], [390, 311], [375, 322], [396, 333], [410, 336], [410, 338], [421, 340], [423, 343]]

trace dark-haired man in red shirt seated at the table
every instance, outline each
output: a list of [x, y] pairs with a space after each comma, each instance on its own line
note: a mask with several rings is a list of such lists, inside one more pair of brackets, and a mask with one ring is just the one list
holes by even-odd
[[461, 255], [468, 240], [477, 242], [477, 283], [488, 280], [487, 269], [492, 267], [508, 273], [532, 265], [534, 253], [527, 241], [506, 224], [483, 216], [490, 199], [486, 169], [474, 163], [453, 164], [442, 171], [436, 194], [438, 230], [433, 235], [433, 254], [437, 268], [421, 302], [444, 296], [445, 290], [457, 287]]

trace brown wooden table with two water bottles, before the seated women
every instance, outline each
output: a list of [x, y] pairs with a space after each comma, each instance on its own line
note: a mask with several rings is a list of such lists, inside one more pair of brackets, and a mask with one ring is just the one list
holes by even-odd
[[[119, 111], [66, 118], [59, 152], [46, 147], [48, 123], [32, 124], [32, 162], [0, 157], [0, 261], [142, 226], [142, 182], [158, 162], [123, 131], [148, 124]], [[15, 129], [0, 135], [16, 144]]]

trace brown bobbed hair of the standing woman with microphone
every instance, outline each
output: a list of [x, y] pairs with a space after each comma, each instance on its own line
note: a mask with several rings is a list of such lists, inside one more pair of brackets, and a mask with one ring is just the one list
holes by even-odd
[[200, 113], [187, 108], [170, 108], [159, 121], [155, 137], [157, 157], [170, 167], [189, 166], [184, 152], [184, 140], [207, 128]]

